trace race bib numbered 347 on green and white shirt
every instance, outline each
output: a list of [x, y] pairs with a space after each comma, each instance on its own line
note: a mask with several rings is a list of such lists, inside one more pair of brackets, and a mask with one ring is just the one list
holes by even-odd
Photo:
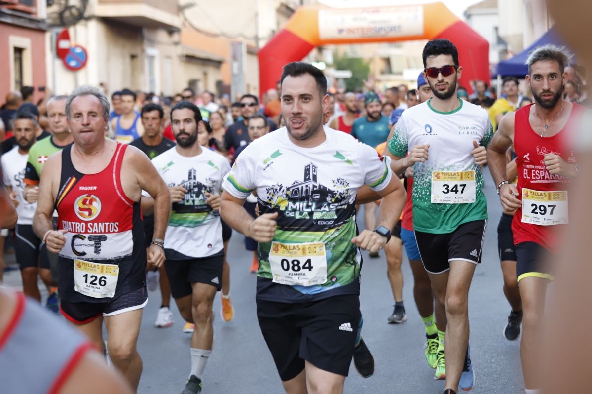
[[475, 171], [432, 171], [432, 204], [475, 202]]

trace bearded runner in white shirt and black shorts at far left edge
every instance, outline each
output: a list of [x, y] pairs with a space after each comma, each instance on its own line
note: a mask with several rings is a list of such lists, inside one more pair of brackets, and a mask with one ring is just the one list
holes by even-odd
[[[41, 239], [37, 238], [33, 232], [33, 214], [36, 204], [29, 204], [22, 197], [25, 166], [29, 149], [35, 143], [36, 128], [37, 121], [33, 114], [17, 112], [14, 127], [12, 127], [17, 146], [2, 156], [2, 172], [4, 185], [8, 189], [12, 203], [17, 207], [18, 221], [15, 229], [17, 237], [14, 249], [21, 269], [22, 290], [25, 295], [40, 302], [41, 293], [37, 287], [37, 278], [41, 277], [49, 293], [52, 293], [52, 274], [49, 270], [47, 253], [41, 252]], [[57, 309], [57, 303], [55, 306]]]

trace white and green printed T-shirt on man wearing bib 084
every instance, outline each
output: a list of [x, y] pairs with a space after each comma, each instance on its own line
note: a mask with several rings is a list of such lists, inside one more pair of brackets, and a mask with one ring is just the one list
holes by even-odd
[[250, 143], [223, 188], [234, 197], [256, 191], [260, 213], [278, 213], [272, 242], [258, 245], [257, 297], [308, 302], [359, 293], [361, 254], [351, 240], [356, 191], [391, 181], [388, 160], [352, 136], [325, 127], [314, 148], [294, 145], [284, 128]]

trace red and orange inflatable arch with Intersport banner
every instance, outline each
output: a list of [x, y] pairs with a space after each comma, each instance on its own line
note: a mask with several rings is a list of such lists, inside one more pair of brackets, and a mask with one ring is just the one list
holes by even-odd
[[326, 44], [451, 40], [463, 66], [460, 85], [490, 81], [489, 43], [442, 3], [377, 8], [301, 7], [259, 50], [259, 91], [276, 87], [282, 67]]

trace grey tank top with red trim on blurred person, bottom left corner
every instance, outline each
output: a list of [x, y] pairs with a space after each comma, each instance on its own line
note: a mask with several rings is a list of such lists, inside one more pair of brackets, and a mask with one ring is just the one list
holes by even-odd
[[65, 322], [17, 293], [17, 306], [0, 331], [3, 393], [58, 393], [93, 345]]

